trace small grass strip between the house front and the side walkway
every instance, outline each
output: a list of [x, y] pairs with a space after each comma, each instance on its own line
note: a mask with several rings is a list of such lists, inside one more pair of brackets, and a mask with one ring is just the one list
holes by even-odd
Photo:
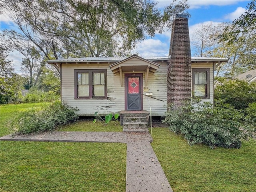
[[93, 123], [90, 119], [81, 119], [72, 124], [60, 127], [59, 131], [122, 132], [123, 127], [116, 121], [104, 124], [104, 122], [100, 121]]

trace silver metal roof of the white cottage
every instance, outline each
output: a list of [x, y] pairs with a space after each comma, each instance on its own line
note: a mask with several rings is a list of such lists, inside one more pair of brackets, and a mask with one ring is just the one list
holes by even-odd
[[[83, 58], [68, 58], [68, 59], [57, 59], [48, 60], [48, 63], [62, 63], [62, 62], [118, 62], [126, 59], [128, 57], [83, 57]], [[157, 61], [157, 60], [170, 60], [170, 57], [142, 57], [146, 60]], [[222, 61], [227, 62], [228, 58], [213, 58], [213, 57], [192, 57], [193, 61]]]

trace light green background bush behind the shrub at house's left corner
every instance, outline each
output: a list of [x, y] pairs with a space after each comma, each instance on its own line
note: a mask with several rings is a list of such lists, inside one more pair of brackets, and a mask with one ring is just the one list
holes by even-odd
[[55, 92], [43, 92], [39, 90], [29, 90], [28, 94], [23, 99], [24, 103], [38, 103], [38, 102], [53, 102], [60, 98]]

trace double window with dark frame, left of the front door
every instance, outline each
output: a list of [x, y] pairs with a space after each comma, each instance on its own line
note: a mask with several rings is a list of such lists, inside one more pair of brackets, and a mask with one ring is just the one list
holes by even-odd
[[106, 69], [75, 70], [75, 99], [106, 98]]

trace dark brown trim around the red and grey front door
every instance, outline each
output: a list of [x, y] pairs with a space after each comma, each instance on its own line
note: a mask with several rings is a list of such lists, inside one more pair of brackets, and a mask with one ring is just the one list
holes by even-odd
[[140, 77], [140, 110], [143, 111], [143, 74], [142, 73], [129, 73], [124, 74], [124, 110], [127, 111], [127, 83], [128, 76], [139, 76]]

